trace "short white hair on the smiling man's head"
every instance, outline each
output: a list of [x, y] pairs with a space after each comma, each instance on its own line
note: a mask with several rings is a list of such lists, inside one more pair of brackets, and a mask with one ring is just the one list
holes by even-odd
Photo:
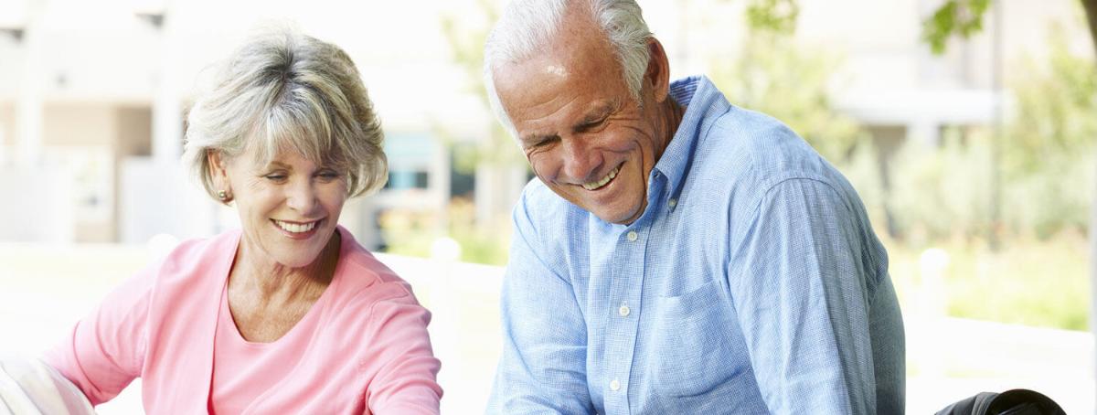
[[652, 32], [634, 0], [513, 0], [507, 4], [484, 44], [484, 85], [491, 111], [516, 138], [518, 132], [495, 89], [494, 71], [501, 64], [530, 57], [548, 43], [572, 5], [588, 8], [588, 15], [601, 27], [617, 54], [629, 92], [634, 100], [640, 100], [640, 88], [651, 58], [647, 40]]

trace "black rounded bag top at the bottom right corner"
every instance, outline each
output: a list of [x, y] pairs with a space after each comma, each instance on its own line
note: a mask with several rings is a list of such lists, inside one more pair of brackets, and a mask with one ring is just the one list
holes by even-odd
[[1065, 415], [1055, 401], [1040, 392], [1015, 389], [1002, 393], [983, 392], [951, 404], [937, 415]]

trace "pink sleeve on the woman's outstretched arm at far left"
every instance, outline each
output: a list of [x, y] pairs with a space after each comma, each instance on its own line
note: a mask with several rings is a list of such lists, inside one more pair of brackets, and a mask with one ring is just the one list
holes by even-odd
[[92, 405], [114, 399], [140, 375], [155, 270], [148, 267], [118, 285], [43, 357]]

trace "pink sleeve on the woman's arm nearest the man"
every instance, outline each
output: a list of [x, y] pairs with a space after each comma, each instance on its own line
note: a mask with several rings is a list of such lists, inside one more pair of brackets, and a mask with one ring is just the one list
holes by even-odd
[[430, 312], [410, 294], [373, 306], [372, 343], [378, 369], [366, 392], [374, 414], [438, 414], [442, 388], [437, 377], [441, 363], [434, 358], [427, 325]]

